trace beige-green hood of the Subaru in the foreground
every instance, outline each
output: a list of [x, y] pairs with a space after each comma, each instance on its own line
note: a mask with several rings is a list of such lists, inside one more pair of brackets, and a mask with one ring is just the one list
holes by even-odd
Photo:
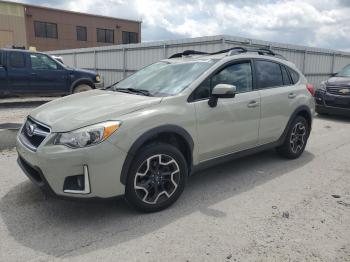
[[52, 132], [66, 132], [150, 107], [159, 97], [93, 90], [46, 103], [30, 116], [51, 127]]

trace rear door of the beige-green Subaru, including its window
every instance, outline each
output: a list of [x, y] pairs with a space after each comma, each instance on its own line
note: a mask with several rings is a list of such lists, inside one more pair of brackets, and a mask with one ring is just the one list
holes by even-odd
[[297, 88], [286, 67], [271, 60], [254, 61], [261, 96], [259, 145], [277, 141], [294, 111]]

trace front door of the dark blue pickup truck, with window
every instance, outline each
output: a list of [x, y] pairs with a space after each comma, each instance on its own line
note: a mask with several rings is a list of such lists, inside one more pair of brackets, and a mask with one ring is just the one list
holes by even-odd
[[30, 54], [30, 86], [37, 93], [68, 93], [67, 70], [45, 54]]

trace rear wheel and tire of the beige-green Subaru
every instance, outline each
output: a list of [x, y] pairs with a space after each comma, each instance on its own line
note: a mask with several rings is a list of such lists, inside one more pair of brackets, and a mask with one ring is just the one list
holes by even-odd
[[277, 152], [288, 159], [296, 159], [304, 152], [310, 129], [306, 119], [297, 116], [289, 127], [284, 143], [277, 147]]

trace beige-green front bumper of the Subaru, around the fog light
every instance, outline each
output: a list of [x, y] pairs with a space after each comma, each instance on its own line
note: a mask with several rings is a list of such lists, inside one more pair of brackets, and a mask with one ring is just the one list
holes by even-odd
[[[17, 137], [17, 152], [24, 173], [51, 194], [64, 198], [111, 198], [125, 193], [120, 174], [127, 154], [108, 140], [81, 149], [43, 143], [34, 152]], [[86, 168], [89, 192], [65, 192], [66, 178], [84, 175]]]

